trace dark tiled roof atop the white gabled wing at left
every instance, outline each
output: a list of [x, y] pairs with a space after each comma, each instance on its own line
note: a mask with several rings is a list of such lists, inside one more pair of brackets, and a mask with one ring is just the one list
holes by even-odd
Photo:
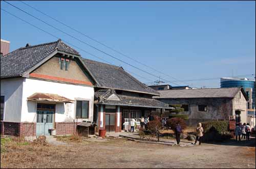
[[1, 78], [20, 76], [55, 50], [80, 55], [60, 39], [55, 42], [18, 48], [1, 57]]

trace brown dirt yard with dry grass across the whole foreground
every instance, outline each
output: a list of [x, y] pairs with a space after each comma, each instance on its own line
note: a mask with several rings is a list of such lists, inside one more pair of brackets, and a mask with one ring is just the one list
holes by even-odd
[[1, 168], [255, 168], [255, 139], [191, 147], [123, 138], [63, 146], [7, 144], [1, 148]]

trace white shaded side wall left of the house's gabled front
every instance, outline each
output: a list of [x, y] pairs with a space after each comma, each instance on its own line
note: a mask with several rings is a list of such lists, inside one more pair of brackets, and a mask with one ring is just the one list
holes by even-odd
[[5, 96], [4, 121], [20, 122], [24, 80], [22, 77], [1, 79], [1, 96]]

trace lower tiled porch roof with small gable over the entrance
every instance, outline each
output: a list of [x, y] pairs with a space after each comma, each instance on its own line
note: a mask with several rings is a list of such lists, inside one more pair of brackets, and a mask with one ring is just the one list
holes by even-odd
[[[112, 94], [119, 97], [120, 100], [107, 100]], [[122, 94], [116, 94], [114, 90], [99, 90], [95, 92], [95, 97], [99, 98], [100, 104], [135, 106], [135, 107], [152, 107], [152, 108], [170, 108], [168, 104], [156, 99], [144, 97], [132, 97]]]

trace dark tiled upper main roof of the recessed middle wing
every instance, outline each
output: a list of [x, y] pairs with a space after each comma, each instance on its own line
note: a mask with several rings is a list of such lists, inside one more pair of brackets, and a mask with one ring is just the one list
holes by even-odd
[[96, 62], [89, 59], [82, 60], [98, 81], [97, 87], [99, 88], [102, 87], [159, 95], [157, 91], [147, 87], [132, 75], [125, 72], [121, 67]]

